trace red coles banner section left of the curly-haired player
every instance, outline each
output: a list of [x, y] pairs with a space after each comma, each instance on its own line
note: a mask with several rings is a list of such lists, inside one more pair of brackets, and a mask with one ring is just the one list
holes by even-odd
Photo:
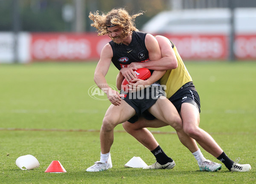
[[96, 34], [32, 33], [32, 60], [92, 60], [111, 39]]

